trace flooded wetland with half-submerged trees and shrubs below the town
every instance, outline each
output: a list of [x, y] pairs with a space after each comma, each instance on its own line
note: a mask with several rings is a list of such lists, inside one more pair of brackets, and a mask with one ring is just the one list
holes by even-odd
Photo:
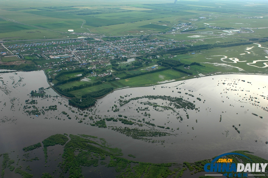
[[[49, 87], [43, 71], [4, 73], [1, 78], [0, 153], [10, 153], [10, 159], [23, 167], [15, 166], [15, 171], [10, 173], [5, 169], [5, 177], [24, 174], [28, 163], [32, 171], [27, 170], [34, 177], [42, 176], [39, 166], [44, 168], [43, 173], [66, 176], [68, 173], [63, 171], [63, 165], [57, 173], [54, 169], [67, 159], [59, 154], [65, 152], [68, 140], [84, 139], [77, 134], [107, 140], [100, 140], [101, 148], [121, 149], [116, 156], [120, 160], [107, 154], [106, 157], [113, 159], [106, 164], [105, 161], [94, 162], [97, 158], [83, 163], [83, 174], [84, 170], [91, 170], [92, 174], [87, 173], [91, 176], [96, 174], [94, 164], [97, 163], [100, 172], [110, 170], [106, 176], [98, 174], [102, 177], [123, 174], [127, 168], [133, 171], [137, 161], [176, 163], [162, 167], [167, 176], [177, 176], [184, 168], [183, 162], [210, 159], [226, 152], [247, 150], [268, 158], [268, 83], [265, 75], [212, 75], [184, 82], [124, 88], [97, 99], [93, 106], [84, 109], [70, 105], [67, 98], [57, 96], [51, 88], [43, 90], [45, 96], [32, 96], [32, 90]], [[51, 136], [56, 134], [65, 136], [61, 136], [60, 141], [53, 141], [57, 137]], [[47, 141], [42, 143], [42, 140]], [[26, 159], [25, 151], [31, 153], [31, 157]], [[102, 159], [103, 153], [97, 153]], [[87, 153], [79, 151], [79, 154]], [[0, 161], [2, 159], [5, 158], [0, 157]], [[126, 164], [116, 168], [122, 161]], [[172, 166], [178, 168], [176, 174], [172, 173]], [[115, 168], [114, 172], [112, 168]]]

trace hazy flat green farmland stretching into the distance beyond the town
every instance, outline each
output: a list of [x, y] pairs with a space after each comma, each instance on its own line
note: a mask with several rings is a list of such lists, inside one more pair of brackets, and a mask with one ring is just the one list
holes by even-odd
[[[18, 4], [20, 4], [19, 2]], [[156, 1], [133, 1], [133, 4], [124, 5], [124, 2], [122, 2], [121, 5], [124, 6], [118, 6], [116, 5], [118, 1], [112, 1], [105, 4], [106, 6], [102, 6], [101, 2], [94, 5], [94, 3], [89, 2], [81, 4], [81, 2], [66, 1], [64, 5], [61, 4], [58, 7], [58, 2], [53, 2], [54, 7], [51, 7], [51, 4], [48, 5], [47, 1], [30, 5], [24, 2], [22, 7], [16, 7], [14, 4], [5, 2], [6, 5], [0, 9], [0, 15], [11, 20], [5, 21], [2, 19], [0, 21], [0, 38], [5, 36], [6, 38], [36, 39], [38, 38], [36, 34], [30, 36], [25, 32], [30, 32], [29, 30], [40, 31], [41, 29], [53, 30], [50, 32], [54, 32], [54, 34], [42, 34], [48, 38], [57, 38], [62, 35], [69, 36], [68, 29], [74, 29], [75, 32], [89, 32], [89, 29], [90, 32], [106, 34], [106, 36], [108, 34], [130, 35], [129, 33], [139, 33], [143, 29], [152, 29], [147, 33], [158, 33], [168, 31], [174, 24], [189, 22], [191, 18], [198, 19], [198, 21], [192, 21], [192, 23], [199, 28], [203, 27], [204, 23], [211, 23], [223, 28], [266, 27], [267, 17], [264, 14], [267, 13], [267, 4], [263, 2], [255, 3], [254, 7], [244, 1], [224, 1], [224, 5], [221, 6], [217, 5], [216, 1], [215, 3], [199, 1], [198, 5], [195, 1], [164, 4], [167, 2], [169, 1], [162, 1], [162, 4], [151, 4], [156, 3]], [[206, 19], [200, 19], [200, 14], [205, 14], [203, 16]], [[264, 17], [245, 18], [250, 16]], [[159, 21], [167, 21], [168, 23], [165, 23], [167, 26], [163, 26], [163, 23]], [[81, 28], [82, 24], [84, 28]], [[206, 28], [197, 31], [205, 30], [214, 31], [216, 29]], [[24, 33], [21, 35], [14, 33], [17, 31]], [[67, 32], [67, 34], [61, 34], [62, 32]], [[41, 35], [39, 35], [40, 37]]]

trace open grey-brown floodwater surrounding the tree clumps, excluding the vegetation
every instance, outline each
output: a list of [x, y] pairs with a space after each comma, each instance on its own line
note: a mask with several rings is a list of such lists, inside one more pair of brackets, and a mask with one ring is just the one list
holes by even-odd
[[[112, 147], [122, 149], [123, 157], [142, 162], [194, 162], [235, 150], [248, 150], [257, 156], [268, 159], [268, 145], [265, 143], [268, 141], [268, 76], [265, 75], [226, 74], [150, 87], [125, 88], [98, 99], [96, 107], [91, 107], [96, 111], [96, 115], [102, 118], [105, 118], [105, 115], [118, 117], [118, 114], [121, 114], [137, 121], [145, 118], [145, 121], [150, 121], [155, 125], [170, 127], [170, 129], [155, 127], [155, 129], [173, 134], [152, 138], [159, 140], [159, 143], [158, 141], [148, 143], [135, 140], [108, 128], [108, 126], [134, 128], [138, 127], [137, 125], [130, 126], [119, 121], [106, 121], [107, 128], [98, 128], [91, 126], [89, 123], [93, 123], [93, 121], [88, 118], [82, 123], [78, 123], [79, 120], [75, 119], [75, 115], [79, 118], [83, 118], [83, 116], [71, 112], [71, 110], [79, 112], [78, 109], [68, 105], [68, 100], [65, 98], [52, 97], [57, 95], [52, 89], [45, 91], [46, 94], [51, 95], [51, 98], [33, 98], [38, 102], [34, 105], [41, 109], [56, 104], [58, 110], [48, 111], [39, 117], [27, 115], [24, 113], [23, 107], [26, 105], [25, 100], [31, 100], [29, 93], [40, 87], [49, 87], [44, 72], [7, 73], [1, 74], [0, 77], [2, 77], [0, 79], [0, 154], [15, 151], [16, 155], [22, 156], [24, 154], [22, 148], [41, 142], [51, 135], [67, 133], [105, 138]], [[181, 93], [178, 93], [179, 91]], [[194, 104], [198, 110], [175, 109], [175, 112], [173, 110], [159, 112], [154, 110], [153, 106], [141, 104], [141, 102], [149, 101], [161, 106], [169, 106], [169, 101], [161, 99], [133, 100], [122, 107], [118, 103], [120, 96], [130, 99], [146, 95], [183, 96], [185, 100], [195, 101]], [[197, 100], [197, 97], [201, 101]], [[66, 106], [64, 106], [65, 104]], [[119, 108], [118, 112], [112, 111], [114, 104]], [[145, 111], [138, 113], [136, 110], [138, 107], [149, 107], [149, 111], [146, 112], [150, 113], [150, 118], [149, 115], [144, 116]], [[68, 113], [72, 119], [61, 114], [62, 111]], [[187, 119], [186, 113], [189, 115], [189, 119]], [[88, 115], [92, 114], [90, 112]], [[178, 114], [183, 118], [182, 121], [177, 119]], [[144, 123], [142, 122], [142, 124]], [[152, 129], [152, 126], [144, 124], [143, 127], [138, 128]], [[161, 144], [161, 140], [165, 142]], [[42, 151], [38, 157], [43, 160], [44, 156], [41, 153]], [[36, 154], [38, 153], [36, 152]], [[127, 157], [127, 154], [133, 154], [136, 158]], [[58, 156], [56, 155], [56, 157]], [[42, 160], [38, 164], [43, 165]]]

